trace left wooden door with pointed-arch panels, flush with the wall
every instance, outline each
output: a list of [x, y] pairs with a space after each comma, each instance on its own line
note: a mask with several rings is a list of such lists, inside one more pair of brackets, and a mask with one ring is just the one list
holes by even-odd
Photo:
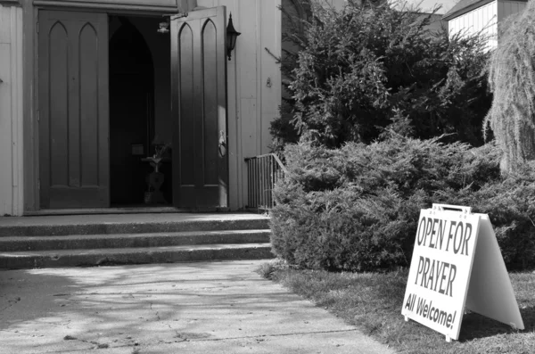
[[39, 11], [41, 208], [110, 203], [108, 17]]

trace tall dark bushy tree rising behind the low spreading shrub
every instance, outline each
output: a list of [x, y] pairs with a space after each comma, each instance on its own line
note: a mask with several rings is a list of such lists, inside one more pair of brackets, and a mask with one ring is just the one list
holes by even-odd
[[309, 13], [293, 21], [302, 31], [286, 36], [301, 50], [283, 62], [291, 98], [272, 125], [276, 140], [336, 147], [369, 143], [387, 128], [483, 143], [490, 95], [481, 37], [449, 38], [428, 29], [432, 14], [389, 4], [350, 0], [337, 11], [312, 0]]

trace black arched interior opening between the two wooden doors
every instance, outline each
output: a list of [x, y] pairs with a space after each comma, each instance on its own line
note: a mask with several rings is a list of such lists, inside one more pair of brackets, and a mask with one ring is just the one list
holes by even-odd
[[110, 40], [110, 197], [115, 206], [142, 204], [151, 168], [154, 65], [142, 34], [126, 17]]

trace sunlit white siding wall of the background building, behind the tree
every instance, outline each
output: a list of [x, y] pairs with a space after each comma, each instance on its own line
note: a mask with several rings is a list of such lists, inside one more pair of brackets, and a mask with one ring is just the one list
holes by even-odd
[[498, 4], [493, 1], [489, 4], [462, 14], [455, 19], [448, 21], [449, 36], [456, 33], [463, 35], [473, 35], [481, 33], [489, 38], [488, 48], [498, 45]]

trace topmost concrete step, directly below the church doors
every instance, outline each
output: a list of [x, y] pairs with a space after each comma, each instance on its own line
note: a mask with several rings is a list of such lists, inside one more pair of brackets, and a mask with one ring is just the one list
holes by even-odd
[[126, 214], [0, 219], [0, 237], [111, 235], [268, 229], [254, 214]]

